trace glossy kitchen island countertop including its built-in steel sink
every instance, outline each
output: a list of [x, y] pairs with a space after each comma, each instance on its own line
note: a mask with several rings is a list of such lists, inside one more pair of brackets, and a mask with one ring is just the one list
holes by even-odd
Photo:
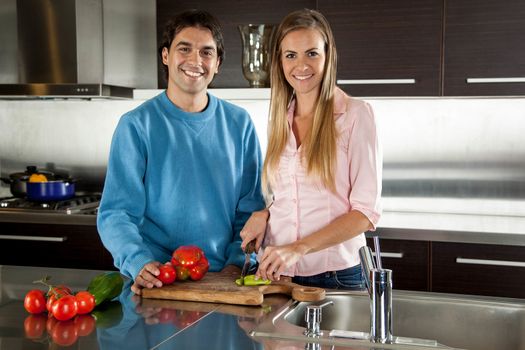
[[[30, 315], [24, 310], [25, 294], [37, 286], [33, 280], [50, 275], [52, 283], [80, 291], [99, 273], [0, 265], [0, 350], [383, 348], [329, 335], [332, 329], [368, 331], [370, 307], [366, 292], [327, 291], [326, 300], [335, 300], [336, 306], [323, 311], [321, 329], [325, 335], [319, 342], [302, 335], [305, 303], [292, 302], [284, 295], [266, 296], [261, 306], [141, 299], [130, 292], [126, 281], [117, 299], [94, 310], [96, 323], [91, 316], [53, 322], [47, 314]], [[338, 300], [337, 295], [346, 302]], [[429, 350], [443, 349], [438, 345], [446, 344], [476, 350], [525, 349], [521, 332], [525, 299], [398, 291], [393, 300], [394, 335], [416, 337], [420, 343], [433, 340], [437, 345], [395, 344], [385, 348]]]

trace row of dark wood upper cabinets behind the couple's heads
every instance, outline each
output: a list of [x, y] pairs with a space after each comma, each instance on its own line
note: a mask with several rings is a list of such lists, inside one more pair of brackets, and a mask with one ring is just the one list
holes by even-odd
[[[165, 22], [189, 8], [210, 11], [223, 26], [226, 59], [214, 88], [248, 87], [238, 25], [278, 24], [294, 10], [312, 8], [330, 22], [338, 49], [338, 84], [351, 95], [525, 94], [522, 0], [157, 0], [158, 42]], [[486, 78], [521, 82], [472, 80]], [[166, 87], [160, 61], [159, 87]]]

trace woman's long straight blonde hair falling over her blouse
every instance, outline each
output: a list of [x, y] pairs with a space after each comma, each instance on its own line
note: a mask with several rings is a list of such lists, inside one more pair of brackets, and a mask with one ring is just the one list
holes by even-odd
[[317, 11], [303, 9], [287, 15], [279, 24], [273, 38], [268, 148], [262, 174], [263, 189], [266, 194], [271, 192], [271, 184], [275, 181], [280, 156], [290, 137], [287, 110], [294, 91], [284, 76], [281, 42], [288, 33], [298, 29], [317, 30], [324, 39], [326, 54], [321, 91], [315, 106], [312, 127], [302, 143], [304, 157], [301, 161], [306, 162], [306, 171], [309, 176], [320, 181], [326, 188], [335, 190], [337, 131], [334, 121], [334, 90], [337, 52], [332, 30], [326, 18]]

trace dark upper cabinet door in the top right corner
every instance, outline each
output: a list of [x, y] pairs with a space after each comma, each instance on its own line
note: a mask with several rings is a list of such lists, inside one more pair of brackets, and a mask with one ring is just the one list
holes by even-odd
[[524, 18], [523, 0], [447, 1], [444, 95], [524, 95]]

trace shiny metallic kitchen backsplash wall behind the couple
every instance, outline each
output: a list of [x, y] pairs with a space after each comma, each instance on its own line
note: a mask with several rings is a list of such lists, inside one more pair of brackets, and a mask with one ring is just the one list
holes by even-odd
[[[157, 93], [144, 90], [128, 101], [0, 100], [2, 177], [37, 165], [100, 191], [120, 116]], [[211, 93], [250, 112], [264, 153], [269, 90]], [[365, 100], [379, 122], [385, 197], [525, 200], [525, 98]]]

